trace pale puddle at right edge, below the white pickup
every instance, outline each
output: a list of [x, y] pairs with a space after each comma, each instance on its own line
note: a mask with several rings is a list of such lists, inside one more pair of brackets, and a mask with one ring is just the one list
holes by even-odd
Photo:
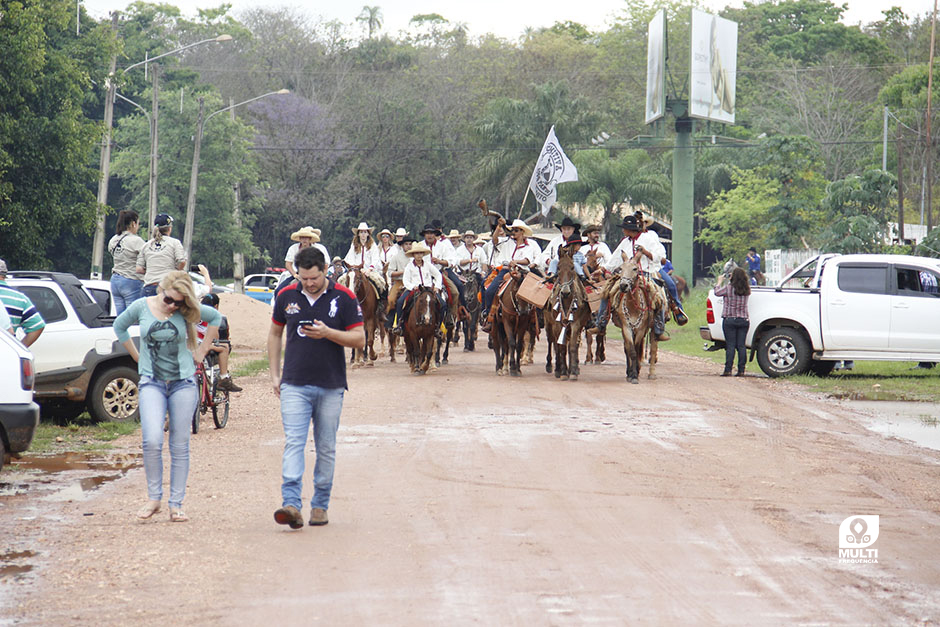
[[940, 451], [940, 403], [850, 401], [846, 405], [871, 415], [866, 426], [876, 433]]

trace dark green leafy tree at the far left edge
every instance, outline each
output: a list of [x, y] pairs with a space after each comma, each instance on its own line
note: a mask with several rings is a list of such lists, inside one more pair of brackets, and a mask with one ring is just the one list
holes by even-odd
[[60, 234], [94, 224], [101, 127], [82, 105], [114, 41], [87, 22], [76, 36], [74, 20], [74, 5], [56, 0], [0, 12], [0, 251], [12, 267], [48, 267]]

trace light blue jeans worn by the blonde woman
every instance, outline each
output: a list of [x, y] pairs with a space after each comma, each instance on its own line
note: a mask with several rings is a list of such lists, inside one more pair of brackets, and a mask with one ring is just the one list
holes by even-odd
[[189, 476], [189, 436], [199, 391], [193, 377], [178, 381], [158, 381], [141, 375], [140, 431], [144, 445], [144, 471], [147, 496], [163, 499], [163, 418], [170, 410], [170, 498], [173, 508], [183, 505]]

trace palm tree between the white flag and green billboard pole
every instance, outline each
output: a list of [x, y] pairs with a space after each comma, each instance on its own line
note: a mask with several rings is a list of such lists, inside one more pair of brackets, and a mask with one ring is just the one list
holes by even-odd
[[586, 207], [603, 207], [601, 233], [605, 238], [611, 216], [624, 205], [629, 211], [642, 206], [660, 215], [668, 213], [669, 180], [655, 170], [645, 150], [625, 150], [617, 156], [601, 149], [579, 150], [572, 161], [578, 168], [578, 180], [559, 185], [559, 197]]

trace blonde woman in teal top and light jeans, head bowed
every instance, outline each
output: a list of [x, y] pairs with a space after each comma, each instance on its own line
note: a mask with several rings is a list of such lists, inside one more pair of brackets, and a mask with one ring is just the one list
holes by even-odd
[[[197, 344], [196, 324], [205, 321], [202, 344]], [[186, 522], [183, 497], [189, 475], [189, 436], [196, 410], [196, 364], [218, 337], [222, 314], [200, 305], [192, 279], [172, 271], [160, 281], [157, 294], [134, 301], [114, 321], [118, 340], [127, 347], [140, 373], [140, 430], [149, 500], [137, 512], [147, 519], [160, 511], [163, 500], [163, 418], [169, 410], [170, 498], [172, 522]], [[140, 352], [128, 335], [140, 325]]]

